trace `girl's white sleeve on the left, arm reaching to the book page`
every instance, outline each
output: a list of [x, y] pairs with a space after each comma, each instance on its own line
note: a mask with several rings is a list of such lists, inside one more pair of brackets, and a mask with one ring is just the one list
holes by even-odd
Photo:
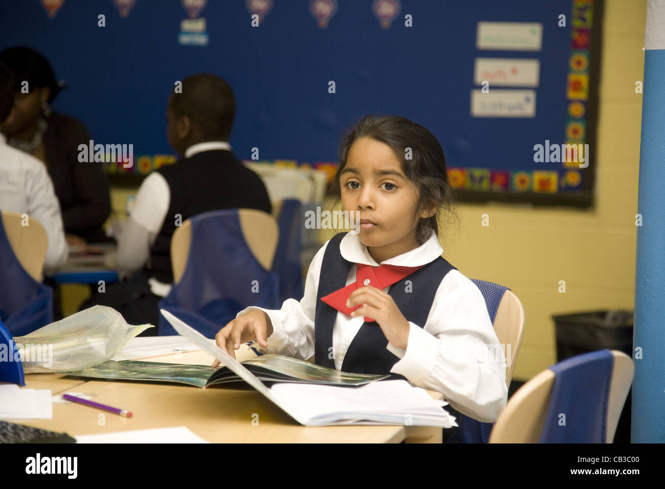
[[317, 307], [317, 291], [319, 290], [319, 274], [321, 262], [329, 242], [326, 242], [317, 254], [307, 271], [305, 293], [300, 301], [287, 299], [281, 309], [263, 309], [247, 307], [237, 313], [239, 317], [248, 311], [258, 309], [265, 312], [273, 323], [273, 334], [266, 339], [267, 348], [259, 347], [257, 342], [252, 345], [261, 353], [276, 353], [287, 357], [307, 360], [314, 355], [314, 315]]

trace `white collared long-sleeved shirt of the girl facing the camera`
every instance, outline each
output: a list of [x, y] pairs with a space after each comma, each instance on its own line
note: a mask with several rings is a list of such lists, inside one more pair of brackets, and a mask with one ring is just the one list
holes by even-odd
[[[273, 325], [267, 348], [253, 345], [261, 353], [278, 353], [309, 359], [314, 355], [314, 317], [321, 262], [329, 242], [317, 252], [307, 273], [305, 295], [300, 301], [287, 299], [281, 309], [265, 311]], [[416, 267], [438, 258], [443, 249], [436, 236], [412, 251], [376, 263], [357, 235], [346, 234], [340, 242], [340, 253], [352, 263], [378, 266], [384, 263]], [[346, 285], [356, 280], [352, 265]], [[386, 287], [384, 292], [388, 292]], [[340, 370], [344, 355], [362, 326], [362, 317], [350, 317], [338, 311], [333, 326], [332, 347], [335, 368]], [[508, 389], [505, 384], [505, 357], [487, 314], [481, 291], [458, 270], [449, 271], [434, 296], [424, 327], [409, 323], [406, 349], [388, 343], [387, 349], [400, 360], [390, 370], [403, 375], [410, 383], [438, 391], [450, 406], [482, 422], [494, 422], [505, 407]]]

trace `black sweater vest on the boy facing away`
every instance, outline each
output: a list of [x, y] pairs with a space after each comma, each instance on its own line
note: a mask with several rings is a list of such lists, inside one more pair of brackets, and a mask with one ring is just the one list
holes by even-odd
[[261, 178], [229, 151], [203, 151], [155, 171], [162, 174], [171, 191], [164, 225], [150, 248], [149, 273], [162, 283], [173, 281], [171, 238], [177, 214], [182, 224], [211, 210], [258, 209], [268, 214], [272, 210]]

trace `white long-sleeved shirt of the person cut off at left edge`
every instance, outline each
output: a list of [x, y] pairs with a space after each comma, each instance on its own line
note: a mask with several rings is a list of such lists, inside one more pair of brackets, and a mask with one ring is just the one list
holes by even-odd
[[[65, 264], [68, 255], [63, 216], [46, 166], [34, 156], [7, 144], [0, 134], [0, 210], [27, 214], [44, 226], [48, 244], [47, 275]], [[28, 226], [29, 226], [28, 221]]]

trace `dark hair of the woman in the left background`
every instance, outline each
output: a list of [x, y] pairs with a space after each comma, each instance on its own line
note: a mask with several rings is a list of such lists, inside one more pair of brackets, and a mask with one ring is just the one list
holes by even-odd
[[32, 48], [25, 46], [10, 47], [0, 52], [0, 61], [14, 72], [16, 92], [21, 90], [21, 83], [28, 82], [29, 89], [33, 86], [51, 88], [48, 102], [51, 103], [63, 86], [55, 81], [55, 74], [49, 61]]

